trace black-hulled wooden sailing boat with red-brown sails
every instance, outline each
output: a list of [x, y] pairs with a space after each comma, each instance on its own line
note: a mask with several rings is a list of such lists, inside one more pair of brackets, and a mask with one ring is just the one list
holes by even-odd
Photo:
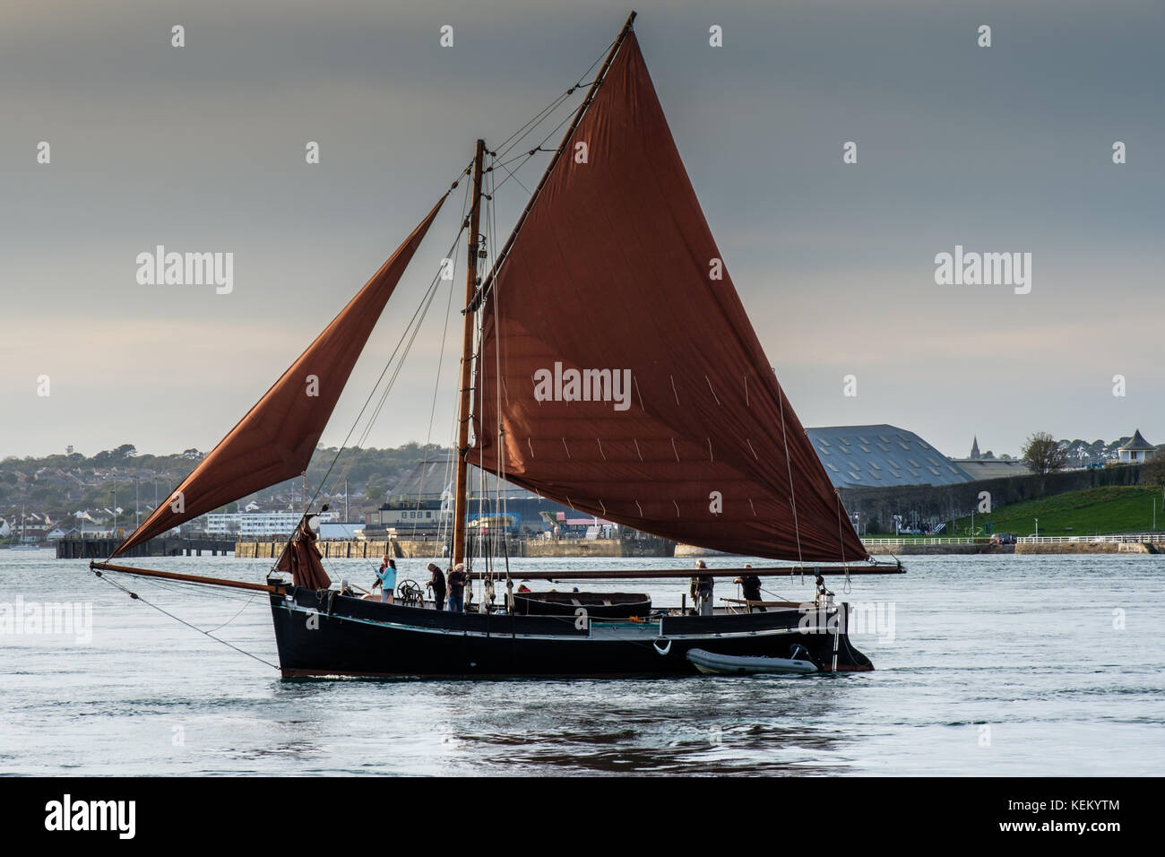
[[[112, 562], [91, 563], [97, 574], [268, 593], [284, 676], [692, 675], [701, 672], [696, 661], [702, 672], [708, 665], [713, 672], [760, 672], [763, 659], [796, 665], [790, 672], [873, 668], [850, 644], [848, 607], [834, 600], [824, 575], [901, 572], [901, 564], [870, 561], [777, 382], [672, 140], [634, 20], [631, 13], [483, 278], [481, 206], [492, 195], [482, 184], [492, 173], [486, 157], [496, 153], [478, 140], [463, 174], [472, 195], [463, 224], [468, 267], [450, 559], [482, 583], [478, 610], [435, 610], [439, 605], [418, 597], [380, 603], [333, 583], [306, 508], [263, 584]], [[373, 325], [449, 194], [111, 560], [306, 470]], [[508, 569], [479, 556], [485, 570], [474, 570], [467, 550], [471, 463], [638, 531], [795, 561], [699, 574], [809, 570], [817, 596], [811, 604], [723, 599], [712, 609], [706, 600], [700, 613], [686, 598], [651, 609], [631, 596], [622, 617], [617, 609], [588, 612], [588, 604], [614, 606], [600, 593], [535, 598], [539, 609], [518, 609]], [[494, 603], [494, 582], [504, 585], [501, 604]], [[531, 598], [522, 602], [529, 607]]]

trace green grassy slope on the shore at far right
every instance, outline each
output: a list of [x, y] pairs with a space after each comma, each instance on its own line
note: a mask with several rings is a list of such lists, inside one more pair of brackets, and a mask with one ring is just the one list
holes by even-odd
[[[1085, 491], [1069, 491], [1042, 500], [1026, 500], [1002, 506], [991, 514], [975, 515], [975, 535], [1018, 533], [1032, 535], [1039, 518], [1040, 535], [1103, 535], [1107, 533], [1148, 533], [1165, 529], [1162, 513], [1162, 490], [1136, 485], [1113, 485]], [[990, 524], [990, 531], [987, 525]], [[970, 517], [955, 521], [956, 533], [968, 535]], [[948, 535], [944, 533], [944, 535]]]

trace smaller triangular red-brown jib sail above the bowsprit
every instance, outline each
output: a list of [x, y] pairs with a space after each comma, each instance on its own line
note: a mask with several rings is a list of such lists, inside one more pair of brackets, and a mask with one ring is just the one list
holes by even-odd
[[113, 556], [306, 470], [372, 329], [444, 202], [442, 197], [299, 359]]

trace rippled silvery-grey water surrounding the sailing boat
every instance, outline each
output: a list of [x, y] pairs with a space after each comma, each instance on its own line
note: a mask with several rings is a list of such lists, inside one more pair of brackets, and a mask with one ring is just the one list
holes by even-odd
[[[230, 557], [136, 562], [252, 581], [261, 581], [267, 567]], [[511, 567], [582, 562], [525, 560]], [[601, 560], [586, 567], [676, 562]], [[403, 561], [402, 578], [423, 582], [423, 564]], [[373, 579], [362, 560], [329, 566], [333, 575], [365, 585]], [[908, 569], [903, 576], [855, 577], [846, 596], [882, 605], [881, 634], [874, 627], [853, 634], [874, 661], [873, 673], [284, 681], [271, 667], [132, 600], [82, 562], [58, 561], [50, 552], [33, 557], [0, 552], [0, 603], [92, 604], [89, 642], [73, 635], [0, 637], [0, 772], [1144, 775], [1165, 770], [1165, 557], [922, 556], [910, 559]], [[199, 627], [227, 623], [218, 635], [276, 661], [266, 596], [123, 579]], [[831, 578], [839, 596], [843, 585]], [[678, 602], [686, 582], [606, 588]], [[792, 599], [812, 597], [807, 578], [770, 578], [765, 588]], [[733, 589], [719, 583], [716, 595]], [[1124, 630], [1114, 626], [1120, 611]]]

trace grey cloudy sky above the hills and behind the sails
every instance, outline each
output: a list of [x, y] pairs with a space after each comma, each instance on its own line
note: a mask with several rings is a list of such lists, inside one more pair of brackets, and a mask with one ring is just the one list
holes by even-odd
[[[1160, 2], [636, 8], [680, 153], [806, 424], [890, 422], [948, 455], [975, 434], [1016, 452], [1040, 429], [1113, 440], [1139, 427], [1165, 442]], [[500, 141], [555, 98], [627, 12], [9, 0], [0, 456], [212, 447], [416, 225], [473, 140]], [[175, 23], [184, 48], [170, 47]], [[438, 45], [446, 23], [452, 49]], [[723, 48], [707, 44], [713, 23]], [[41, 140], [51, 164], [35, 161]], [[308, 140], [319, 166], [304, 163]], [[841, 163], [847, 140], [854, 166]], [[1127, 164], [1111, 163], [1115, 140]], [[518, 178], [532, 188], [544, 163]], [[517, 182], [502, 189], [500, 238], [524, 202]], [[325, 442], [347, 431], [456, 219], [445, 211], [430, 232]], [[139, 286], [134, 259], [156, 244], [233, 252], [234, 291]], [[1032, 253], [1031, 294], [935, 286], [934, 254], [956, 244]], [[369, 443], [425, 440], [437, 315]], [[446, 385], [435, 442], [449, 440], [452, 405]]]

